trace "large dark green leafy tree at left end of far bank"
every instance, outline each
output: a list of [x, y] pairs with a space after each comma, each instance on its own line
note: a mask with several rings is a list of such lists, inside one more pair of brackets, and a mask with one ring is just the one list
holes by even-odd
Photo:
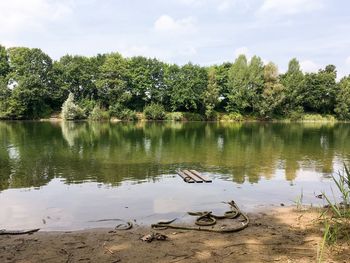
[[55, 90], [52, 60], [40, 49], [8, 49], [12, 86], [7, 114], [10, 118], [38, 118], [51, 111], [50, 97]]

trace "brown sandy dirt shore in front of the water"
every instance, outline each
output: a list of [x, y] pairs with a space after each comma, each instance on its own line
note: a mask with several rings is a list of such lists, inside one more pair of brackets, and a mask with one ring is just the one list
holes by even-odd
[[[319, 211], [280, 207], [248, 214], [237, 233], [157, 231], [166, 241], [140, 238], [150, 228], [93, 229], [0, 236], [0, 262], [316, 262], [322, 242]], [[349, 244], [327, 249], [323, 262], [350, 262]]]

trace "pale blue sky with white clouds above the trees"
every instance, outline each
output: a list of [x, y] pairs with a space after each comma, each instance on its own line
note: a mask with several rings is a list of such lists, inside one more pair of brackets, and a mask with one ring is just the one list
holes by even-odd
[[350, 74], [348, 0], [0, 0], [0, 44], [53, 59], [120, 52], [212, 65], [239, 54], [284, 72], [334, 64]]

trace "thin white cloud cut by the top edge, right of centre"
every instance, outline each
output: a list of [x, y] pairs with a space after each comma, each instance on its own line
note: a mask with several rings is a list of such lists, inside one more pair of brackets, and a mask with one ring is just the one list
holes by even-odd
[[264, 0], [258, 13], [292, 15], [310, 12], [323, 7], [322, 0]]

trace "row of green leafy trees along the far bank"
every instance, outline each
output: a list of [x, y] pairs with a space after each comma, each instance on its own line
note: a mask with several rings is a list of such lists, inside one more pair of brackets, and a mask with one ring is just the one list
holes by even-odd
[[81, 117], [104, 112], [127, 119], [153, 110], [207, 120], [220, 113], [257, 119], [318, 113], [350, 119], [350, 75], [337, 81], [334, 65], [304, 74], [293, 58], [280, 74], [274, 63], [245, 55], [206, 67], [119, 53], [65, 55], [54, 61], [38, 48], [0, 45], [1, 119], [47, 117], [61, 111], [69, 94]]

